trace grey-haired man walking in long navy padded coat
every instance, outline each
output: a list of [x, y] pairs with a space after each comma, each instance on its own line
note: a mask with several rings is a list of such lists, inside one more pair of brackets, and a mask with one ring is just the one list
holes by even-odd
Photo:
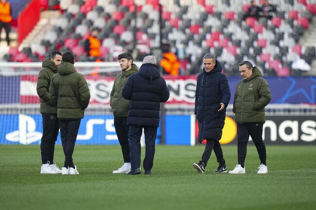
[[223, 150], [219, 143], [225, 124], [226, 107], [230, 99], [230, 90], [226, 76], [221, 73], [222, 65], [210, 53], [203, 57], [203, 72], [197, 76], [195, 92], [195, 110], [198, 120], [198, 141], [206, 139], [202, 160], [193, 163], [193, 167], [204, 173], [207, 162], [214, 149], [219, 166], [216, 173], [226, 173], [227, 167]]

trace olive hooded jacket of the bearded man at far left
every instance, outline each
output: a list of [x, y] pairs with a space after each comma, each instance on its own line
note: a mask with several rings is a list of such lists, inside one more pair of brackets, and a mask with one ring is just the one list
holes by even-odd
[[57, 73], [57, 66], [50, 58], [46, 58], [42, 63], [42, 69], [38, 73], [36, 85], [36, 92], [40, 100], [40, 113], [57, 113], [57, 107], [49, 104], [51, 100], [50, 85], [55, 73]]

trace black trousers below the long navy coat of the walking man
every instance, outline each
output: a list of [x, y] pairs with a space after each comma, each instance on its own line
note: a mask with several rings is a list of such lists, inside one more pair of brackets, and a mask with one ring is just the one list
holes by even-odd
[[212, 150], [214, 150], [219, 165], [226, 165], [221, 144], [219, 143], [219, 141], [215, 141], [212, 139], [206, 140], [205, 149], [202, 155], [202, 161], [205, 162], [205, 164], [207, 164], [211, 157]]

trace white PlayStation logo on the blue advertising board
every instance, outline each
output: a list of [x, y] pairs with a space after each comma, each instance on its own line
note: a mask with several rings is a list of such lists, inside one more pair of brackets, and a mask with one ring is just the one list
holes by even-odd
[[6, 140], [19, 142], [22, 145], [29, 145], [41, 139], [42, 133], [35, 131], [35, 120], [25, 114], [18, 115], [18, 130], [7, 133]]

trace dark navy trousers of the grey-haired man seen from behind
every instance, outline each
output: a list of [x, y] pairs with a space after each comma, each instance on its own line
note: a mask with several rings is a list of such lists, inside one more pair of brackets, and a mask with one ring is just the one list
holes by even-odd
[[154, 164], [155, 156], [155, 141], [157, 136], [157, 127], [142, 127], [142, 126], [129, 126], [128, 139], [130, 145], [130, 160], [131, 168], [140, 168], [140, 137], [144, 128], [145, 134], [145, 158], [143, 161], [143, 167], [145, 171], [151, 171]]

